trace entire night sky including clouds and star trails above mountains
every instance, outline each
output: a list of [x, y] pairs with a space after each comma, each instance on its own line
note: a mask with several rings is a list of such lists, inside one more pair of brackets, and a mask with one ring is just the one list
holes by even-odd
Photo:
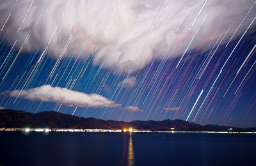
[[255, 3], [0, 0], [0, 106], [256, 126]]

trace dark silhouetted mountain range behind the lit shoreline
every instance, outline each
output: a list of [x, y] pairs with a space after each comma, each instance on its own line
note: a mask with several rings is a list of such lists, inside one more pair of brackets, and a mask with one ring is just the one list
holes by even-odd
[[208, 124], [189, 123], [188, 121], [164, 120], [164, 121], [112, 121], [84, 118], [62, 114], [60, 112], [45, 111], [36, 114], [20, 110], [0, 110], [0, 128], [83, 128], [83, 129], [115, 129], [136, 128], [138, 130], [157, 130], [184, 132], [227, 132], [232, 128], [233, 132], [256, 132], [256, 128], [233, 128], [230, 126], [218, 126]]

